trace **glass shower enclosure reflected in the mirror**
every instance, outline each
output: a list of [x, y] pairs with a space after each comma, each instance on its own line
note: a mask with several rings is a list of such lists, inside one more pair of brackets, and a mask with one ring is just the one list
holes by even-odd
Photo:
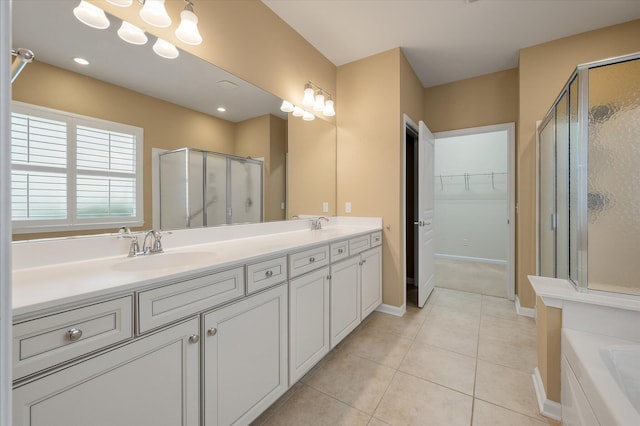
[[263, 220], [263, 161], [195, 148], [159, 158], [161, 229]]

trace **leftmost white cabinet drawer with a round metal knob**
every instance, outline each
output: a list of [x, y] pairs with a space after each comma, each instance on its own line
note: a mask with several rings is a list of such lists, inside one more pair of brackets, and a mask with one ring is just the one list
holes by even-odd
[[13, 378], [133, 336], [133, 297], [125, 296], [13, 326]]

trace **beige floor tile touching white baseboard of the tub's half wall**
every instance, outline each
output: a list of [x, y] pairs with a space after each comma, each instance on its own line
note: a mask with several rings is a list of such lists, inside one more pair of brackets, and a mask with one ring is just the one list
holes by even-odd
[[539, 414], [531, 372], [478, 360], [475, 397], [543, 420]]

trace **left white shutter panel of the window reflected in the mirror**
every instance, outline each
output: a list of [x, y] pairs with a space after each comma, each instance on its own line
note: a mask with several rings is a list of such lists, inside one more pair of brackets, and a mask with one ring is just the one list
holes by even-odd
[[14, 220], [67, 217], [67, 124], [11, 115], [11, 215]]

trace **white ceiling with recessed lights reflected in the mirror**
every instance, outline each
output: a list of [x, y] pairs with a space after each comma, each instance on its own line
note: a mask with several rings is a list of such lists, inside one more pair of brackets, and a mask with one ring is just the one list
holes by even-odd
[[[151, 49], [153, 36], [144, 46], [123, 42], [116, 34], [122, 21], [111, 15], [106, 30], [82, 24], [73, 15], [78, 3], [14, 0], [13, 47], [32, 50], [36, 61], [227, 121], [243, 121], [266, 113], [287, 118], [280, 111], [280, 99], [194, 55], [181, 50], [176, 59], [157, 56]], [[76, 56], [88, 59], [90, 65], [76, 64], [72, 60]], [[220, 106], [227, 110], [217, 111]]]

